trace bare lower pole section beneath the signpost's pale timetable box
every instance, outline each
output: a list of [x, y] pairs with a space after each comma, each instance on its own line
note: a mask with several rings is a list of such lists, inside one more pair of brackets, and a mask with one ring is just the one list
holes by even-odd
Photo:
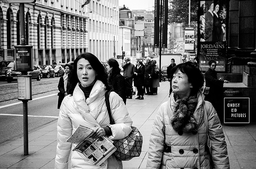
[[24, 155], [28, 155], [28, 101], [23, 102], [23, 143]]

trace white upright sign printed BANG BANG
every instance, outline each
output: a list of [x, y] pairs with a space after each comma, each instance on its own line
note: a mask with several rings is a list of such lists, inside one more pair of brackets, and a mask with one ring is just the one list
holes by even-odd
[[185, 26], [185, 52], [194, 52], [194, 27]]

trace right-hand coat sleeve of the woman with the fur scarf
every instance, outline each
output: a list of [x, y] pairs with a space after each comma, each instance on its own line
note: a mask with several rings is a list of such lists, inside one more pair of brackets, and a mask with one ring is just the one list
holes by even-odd
[[205, 102], [205, 108], [208, 115], [208, 133], [212, 143], [215, 169], [229, 169], [227, 144], [219, 117], [210, 102]]

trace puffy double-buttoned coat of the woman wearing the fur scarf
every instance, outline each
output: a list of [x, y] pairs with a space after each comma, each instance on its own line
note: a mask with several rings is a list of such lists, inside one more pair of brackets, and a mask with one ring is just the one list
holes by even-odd
[[[212, 104], [204, 103], [202, 92], [197, 93], [197, 106], [194, 117], [197, 132], [176, 132], [171, 125], [175, 100], [173, 92], [169, 101], [163, 103], [156, 115], [149, 140], [146, 169], [210, 169], [209, 150], [206, 149], [205, 105], [208, 118], [208, 134], [212, 143], [212, 158], [215, 169], [229, 169], [229, 159], [225, 136], [219, 117]], [[167, 145], [164, 147], [164, 145]], [[208, 147], [207, 147], [208, 148]]]

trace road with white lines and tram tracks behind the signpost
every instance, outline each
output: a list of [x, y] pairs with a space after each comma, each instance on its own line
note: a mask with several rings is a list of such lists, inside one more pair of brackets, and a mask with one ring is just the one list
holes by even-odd
[[[58, 82], [59, 78], [32, 80], [32, 101], [28, 101], [28, 132], [57, 120]], [[0, 85], [0, 95], [0, 143], [3, 143], [23, 135], [23, 103], [17, 99], [17, 82]]]

